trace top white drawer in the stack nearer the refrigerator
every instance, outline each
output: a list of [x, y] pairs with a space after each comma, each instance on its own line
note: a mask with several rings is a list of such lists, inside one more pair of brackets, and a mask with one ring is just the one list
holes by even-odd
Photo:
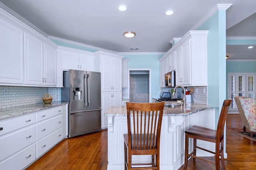
[[50, 117], [61, 114], [63, 111], [63, 107], [55, 107], [53, 109], [46, 109], [45, 111], [40, 111], [36, 113], [36, 122], [43, 121]]

